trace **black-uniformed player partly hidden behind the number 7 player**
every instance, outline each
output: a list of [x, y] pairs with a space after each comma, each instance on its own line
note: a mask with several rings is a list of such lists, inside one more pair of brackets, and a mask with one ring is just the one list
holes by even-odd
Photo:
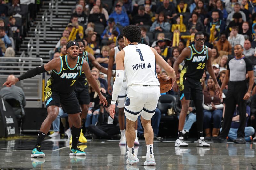
[[[84, 51], [85, 43], [83, 40], [77, 40], [76, 41], [79, 44], [79, 56], [83, 58], [85, 61], [87, 61], [89, 68], [91, 70], [91, 66], [93, 65], [96, 67], [99, 71], [101, 71], [104, 74], [107, 74], [107, 69], [102, 67], [95, 59], [95, 57], [88, 53], [87, 51]], [[86, 116], [89, 110], [89, 103], [90, 103], [90, 97], [89, 97], [89, 85], [86, 80], [86, 76], [82, 72], [81, 76], [78, 78], [78, 82], [76, 84], [76, 87], [74, 89], [76, 93], [76, 97], [79, 101], [79, 104], [81, 106], [81, 123], [82, 127], [84, 126]]]

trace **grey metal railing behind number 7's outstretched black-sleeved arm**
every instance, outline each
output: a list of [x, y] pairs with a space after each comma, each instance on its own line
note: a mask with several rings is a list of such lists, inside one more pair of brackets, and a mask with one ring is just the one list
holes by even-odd
[[[39, 57], [1, 57], [0, 59], [0, 81], [5, 82], [10, 74], [16, 77], [27, 70], [43, 65], [43, 59]], [[26, 96], [26, 107], [42, 107], [42, 80], [43, 73], [33, 78], [17, 82], [16, 86], [21, 87]], [[0, 89], [3, 86], [0, 86]]]

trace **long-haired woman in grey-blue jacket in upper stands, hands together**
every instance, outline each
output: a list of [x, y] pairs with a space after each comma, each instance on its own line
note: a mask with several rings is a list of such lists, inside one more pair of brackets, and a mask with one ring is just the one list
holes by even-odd
[[150, 27], [150, 32], [160, 31], [160, 32], [169, 32], [171, 29], [171, 25], [169, 22], [166, 22], [166, 16], [163, 12], [160, 12], [158, 18], [155, 22], [153, 22]]

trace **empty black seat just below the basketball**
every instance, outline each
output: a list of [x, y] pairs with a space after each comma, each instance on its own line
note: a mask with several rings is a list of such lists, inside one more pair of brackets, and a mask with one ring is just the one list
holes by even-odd
[[161, 111], [162, 115], [167, 115], [168, 109], [174, 108], [176, 98], [172, 95], [161, 95], [158, 100], [157, 108]]

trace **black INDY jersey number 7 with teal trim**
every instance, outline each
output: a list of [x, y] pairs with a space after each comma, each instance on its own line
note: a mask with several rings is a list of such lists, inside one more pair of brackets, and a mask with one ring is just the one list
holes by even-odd
[[82, 74], [83, 59], [78, 56], [74, 68], [68, 65], [67, 55], [60, 56], [60, 71], [52, 70], [51, 77], [47, 80], [45, 87], [45, 100], [51, 96], [52, 91], [59, 94], [69, 94], [76, 87], [76, 82]]

